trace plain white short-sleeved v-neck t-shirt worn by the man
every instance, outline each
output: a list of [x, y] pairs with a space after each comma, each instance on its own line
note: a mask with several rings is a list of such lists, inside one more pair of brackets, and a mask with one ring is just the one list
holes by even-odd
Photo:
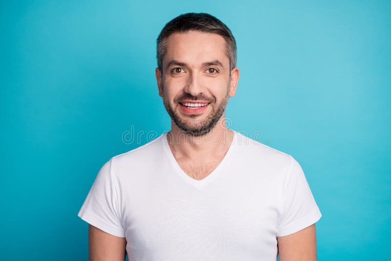
[[130, 261], [276, 261], [277, 237], [322, 215], [292, 156], [234, 133], [201, 180], [179, 167], [166, 133], [112, 157], [78, 216], [126, 237]]

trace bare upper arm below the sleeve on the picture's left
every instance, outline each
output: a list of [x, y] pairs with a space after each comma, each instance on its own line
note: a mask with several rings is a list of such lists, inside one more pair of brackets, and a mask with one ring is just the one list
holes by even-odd
[[88, 226], [89, 261], [124, 261], [126, 238], [110, 235], [92, 225]]

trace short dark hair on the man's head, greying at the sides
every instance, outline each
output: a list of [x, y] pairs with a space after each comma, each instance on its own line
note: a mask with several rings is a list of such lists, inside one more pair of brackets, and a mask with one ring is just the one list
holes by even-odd
[[156, 42], [157, 66], [163, 69], [163, 56], [166, 53], [167, 38], [175, 33], [185, 33], [188, 31], [200, 31], [221, 35], [227, 44], [227, 56], [230, 62], [230, 71], [236, 66], [236, 41], [231, 30], [216, 17], [206, 13], [187, 13], [175, 17], [166, 23], [159, 34]]

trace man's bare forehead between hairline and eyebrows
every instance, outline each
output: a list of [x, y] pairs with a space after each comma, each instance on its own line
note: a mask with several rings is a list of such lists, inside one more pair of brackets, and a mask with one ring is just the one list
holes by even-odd
[[229, 67], [225, 39], [199, 31], [174, 33], [168, 37], [163, 64], [171, 60], [193, 65], [218, 60]]

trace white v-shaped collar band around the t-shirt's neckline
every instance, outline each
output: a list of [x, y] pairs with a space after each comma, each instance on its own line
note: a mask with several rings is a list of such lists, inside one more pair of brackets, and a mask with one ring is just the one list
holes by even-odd
[[[231, 130], [233, 131], [233, 130]], [[208, 184], [212, 179], [214, 179], [219, 173], [221, 173], [221, 170], [224, 168], [224, 166], [227, 164], [229, 157], [231, 156], [232, 152], [235, 149], [235, 146], [238, 141], [238, 135], [239, 133], [237, 131], [234, 132], [234, 137], [232, 139], [231, 145], [228, 148], [228, 151], [225, 153], [223, 159], [220, 161], [220, 163], [217, 165], [217, 167], [206, 177], [203, 179], [197, 180], [195, 178], [192, 178], [188, 174], [186, 174], [182, 168], [179, 166], [178, 162], [176, 161], [173, 152], [170, 149], [170, 146], [168, 145], [167, 141], [167, 132], [163, 133], [161, 135], [161, 141], [163, 143], [163, 146], [165, 148], [165, 152], [168, 156], [169, 161], [171, 162], [172, 166], [174, 167], [174, 172], [177, 174], [180, 178], [182, 178], [185, 182], [189, 183], [190, 185], [194, 186], [197, 189], [203, 188], [206, 184]]]

